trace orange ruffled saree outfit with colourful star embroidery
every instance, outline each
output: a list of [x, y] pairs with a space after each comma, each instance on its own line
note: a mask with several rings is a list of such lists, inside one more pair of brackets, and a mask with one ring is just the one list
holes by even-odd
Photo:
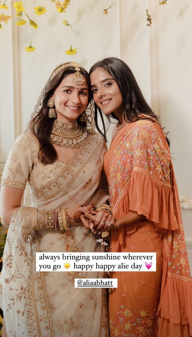
[[[156, 252], [156, 272], [114, 272], [111, 337], [190, 337], [192, 278], [171, 156], [158, 123], [141, 119], [116, 135], [104, 157], [115, 218], [145, 221], [112, 232], [112, 252]], [[157, 326], [157, 319], [158, 325]]]

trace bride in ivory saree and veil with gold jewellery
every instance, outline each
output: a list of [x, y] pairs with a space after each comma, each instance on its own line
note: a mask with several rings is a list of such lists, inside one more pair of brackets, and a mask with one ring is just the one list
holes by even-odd
[[[105, 292], [74, 288], [74, 278], [99, 272], [36, 272], [35, 265], [38, 251], [97, 249], [80, 219], [92, 208], [86, 205], [107, 199], [100, 189], [106, 143], [94, 131], [91, 97], [82, 66], [57, 66], [9, 152], [0, 195], [2, 222], [10, 223], [0, 277], [3, 336], [108, 337]], [[31, 207], [22, 206], [27, 181]]]

